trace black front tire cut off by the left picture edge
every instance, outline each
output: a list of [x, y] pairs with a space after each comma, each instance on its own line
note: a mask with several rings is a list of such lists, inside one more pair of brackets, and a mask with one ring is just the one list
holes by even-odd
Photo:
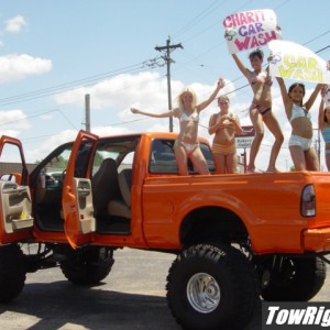
[[25, 258], [16, 244], [0, 246], [0, 302], [20, 295], [24, 287]]

